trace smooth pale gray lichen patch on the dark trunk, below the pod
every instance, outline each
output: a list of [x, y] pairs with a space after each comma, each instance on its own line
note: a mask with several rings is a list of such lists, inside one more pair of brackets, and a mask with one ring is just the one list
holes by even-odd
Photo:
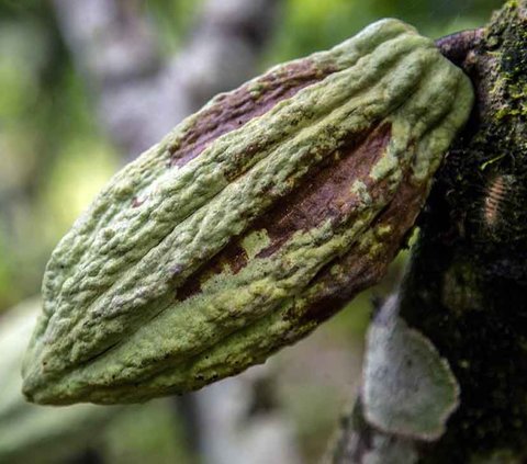
[[362, 405], [374, 428], [434, 441], [459, 403], [459, 386], [447, 361], [397, 315], [391, 297], [368, 332]]

